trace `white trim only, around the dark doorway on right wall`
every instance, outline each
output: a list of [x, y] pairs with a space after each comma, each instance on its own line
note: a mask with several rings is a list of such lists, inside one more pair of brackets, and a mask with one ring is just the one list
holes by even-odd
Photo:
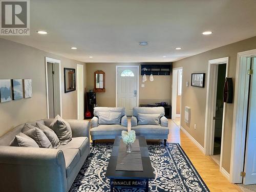
[[[204, 131], [204, 152], [205, 155], [214, 154], [214, 132], [215, 132], [215, 111], [216, 96], [218, 84], [218, 65], [226, 63], [226, 75], [228, 76], [229, 57], [212, 59], [208, 61], [207, 71], [207, 93], [206, 93], [206, 110], [205, 110], [205, 131]], [[213, 83], [212, 83], [213, 82]], [[222, 131], [221, 131], [221, 155], [220, 155], [220, 172], [222, 172], [222, 155], [224, 141], [226, 103], [223, 104]], [[225, 170], [223, 170], [225, 171]]]

